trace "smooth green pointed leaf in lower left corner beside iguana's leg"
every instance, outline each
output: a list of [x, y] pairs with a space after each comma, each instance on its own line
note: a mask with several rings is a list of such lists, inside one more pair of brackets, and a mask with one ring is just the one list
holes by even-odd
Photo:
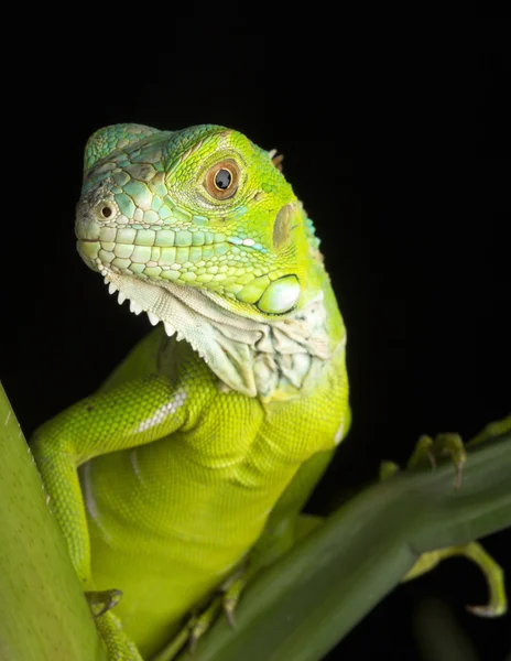
[[64, 538], [0, 383], [0, 659], [105, 658]]

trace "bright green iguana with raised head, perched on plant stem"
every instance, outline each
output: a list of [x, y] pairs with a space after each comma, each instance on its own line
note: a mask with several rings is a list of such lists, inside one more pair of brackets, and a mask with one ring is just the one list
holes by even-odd
[[85, 589], [123, 592], [149, 658], [264, 529], [292, 535], [349, 426], [346, 332], [302, 205], [236, 131], [98, 131], [76, 234], [162, 323], [33, 449]]

